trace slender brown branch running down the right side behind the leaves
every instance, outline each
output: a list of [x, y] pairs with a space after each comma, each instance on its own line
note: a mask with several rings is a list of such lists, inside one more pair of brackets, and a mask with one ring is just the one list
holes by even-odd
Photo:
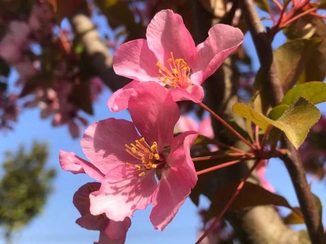
[[[242, 4], [260, 64], [263, 68], [264, 74], [268, 77], [268, 83], [272, 89], [271, 93], [275, 97], [271, 100], [271, 103], [273, 106], [276, 106], [283, 97], [283, 90], [273, 63], [271, 40], [269, 40], [264, 32], [253, 0], [244, 0]], [[289, 151], [288, 156], [283, 156], [282, 159], [291, 176], [295, 192], [297, 193], [311, 242], [314, 244], [326, 243], [321, 220], [318, 216], [317, 208], [310, 192], [298, 152], [284, 136], [282, 138], [282, 144]]]

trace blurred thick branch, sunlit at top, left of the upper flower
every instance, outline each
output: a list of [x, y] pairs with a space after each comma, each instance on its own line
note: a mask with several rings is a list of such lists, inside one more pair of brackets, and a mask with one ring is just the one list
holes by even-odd
[[100, 36], [93, 22], [84, 14], [76, 14], [70, 22], [77, 37], [80, 38], [94, 72], [103, 82], [115, 91], [129, 82], [129, 79], [114, 74], [112, 56]]

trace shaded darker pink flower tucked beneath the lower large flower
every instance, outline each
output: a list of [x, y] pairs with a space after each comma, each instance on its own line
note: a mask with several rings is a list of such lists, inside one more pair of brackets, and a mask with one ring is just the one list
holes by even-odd
[[131, 225], [130, 218], [124, 221], [115, 222], [109, 220], [105, 214], [98, 216], [90, 213], [90, 194], [100, 189], [100, 183], [87, 183], [80, 187], [74, 194], [73, 203], [81, 217], [76, 223], [88, 230], [99, 230], [100, 239], [98, 244], [124, 244], [126, 233]]

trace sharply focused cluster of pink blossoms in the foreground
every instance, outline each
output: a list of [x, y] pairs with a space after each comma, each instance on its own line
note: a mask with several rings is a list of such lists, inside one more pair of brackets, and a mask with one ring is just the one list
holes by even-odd
[[[156, 229], [173, 219], [197, 182], [190, 148], [198, 133], [174, 136], [180, 118], [176, 101], [201, 102], [201, 83], [242, 42], [238, 28], [217, 24], [196, 47], [181, 16], [163, 10], [147, 27], [146, 40], [117, 50], [115, 73], [134, 80], [111, 95], [108, 107], [114, 112], [128, 108], [133, 122], [109, 118], [90, 125], [81, 140], [89, 161], [60, 152], [64, 170], [99, 181], [84, 185], [74, 197], [82, 215], [77, 223], [100, 230], [98, 243], [104, 238], [124, 243], [133, 213], [151, 203]], [[213, 136], [212, 130], [206, 132]]]

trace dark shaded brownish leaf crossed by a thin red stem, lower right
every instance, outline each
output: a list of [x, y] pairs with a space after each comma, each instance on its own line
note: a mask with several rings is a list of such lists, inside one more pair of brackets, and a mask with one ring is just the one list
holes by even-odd
[[[216, 197], [212, 200], [210, 210], [206, 216], [207, 220], [216, 217], [219, 213], [221, 213], [225, 204], [228, 202], [238, 185], [239, 182], [233, 182], [216, 192]], [[265, 190], [256, 184], [246, 182], [238, 196], [234, 198], [228, 211], [241, 210], [245, 207], [253, 207], [257, 205], [277, 205], [285, 206], [291, 210], [293, 209], [284, 197]]]

